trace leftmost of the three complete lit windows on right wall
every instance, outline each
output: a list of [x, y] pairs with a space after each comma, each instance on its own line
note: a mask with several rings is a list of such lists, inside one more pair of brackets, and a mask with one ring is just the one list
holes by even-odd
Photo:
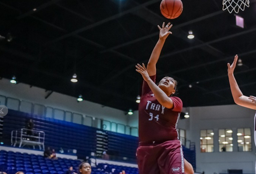
[[213, 152], [213, 130], [204, 129], [200, 132], [201, 152]]

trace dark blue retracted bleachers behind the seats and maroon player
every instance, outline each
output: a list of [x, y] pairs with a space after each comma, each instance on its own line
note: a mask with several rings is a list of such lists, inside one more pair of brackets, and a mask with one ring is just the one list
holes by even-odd
[[[90, 126], [56, 120], [48, 117], [39, 117], [26, 114], [20, 111], [9, 110], [3, 120], [3, 140], [8, 145], [12, 130], [25, 127], [28, 119], [34, 120], [34, 129], [45, 132], [45, 147], [54, 148], [56, 151], [60, 147], [63, 149], [77, 150], [78, 159], [86, 159], [91, 156], [91, 152], [96, 153], [97, 131], [108, 134], [107, 151], [114, 158], [111, 160], [123, 160], [136, 163], [136, 149], [138, 137], [131, 135], [109, 132]], [[10, 144], [10, 142], [9, 142]], [[183, 147], [184, 157], [195, 169], [195, 150]], [[112, 154], [111, 154], [112, 153]]]

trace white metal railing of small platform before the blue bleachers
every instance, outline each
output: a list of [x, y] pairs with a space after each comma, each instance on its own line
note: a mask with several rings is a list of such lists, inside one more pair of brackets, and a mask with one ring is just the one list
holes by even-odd
[[[28, 132], [31, 135], [28, 135]], [[25, 145], [31, 145], [34, 147], [35, 145], [38, 145], [40, 150], [42, 149], [41, 146], [44, 150], [44, 138], [45, 133], [43, 131], [22, 128], [20, 131], [12, 131], [11, 145], [14, 147], [16, 146], [16, 144], [19, 144], [19, 147], [24, 147]]]

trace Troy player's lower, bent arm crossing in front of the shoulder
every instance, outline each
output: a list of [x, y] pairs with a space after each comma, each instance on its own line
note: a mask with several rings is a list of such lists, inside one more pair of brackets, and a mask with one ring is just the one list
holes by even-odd
[[173, 101], [172, 99], [170, 99], [165, 92], [163, 92], [163, 90], [161, 90], [156, 84], [155, 82], [153, 82], [149, 76], [149, 73], [147, 72], [147, 69], [144, 65], [144, 63], [142, 63], [142, 66], [140, 64], [136, 65], [136, 71], [139, 72], [142, 77], [144, 78], [144, 80], [147, 82], [148, 86], [150, 87], [150, 89], [152, 90], [152, 92], [154, 93], [154, 96], [156, 97], [157, 101], [164, 106], [165, 108], [173, 108]]

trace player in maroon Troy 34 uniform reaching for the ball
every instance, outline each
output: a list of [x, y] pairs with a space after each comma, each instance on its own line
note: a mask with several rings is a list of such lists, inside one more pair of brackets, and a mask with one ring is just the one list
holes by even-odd
[[177, 81], [171, 77], [156, 81], [156, 63], [165, 39], [172, 34], [168, 23], [158, 26], [159, 40], [148, 61], [147, 68], [137, 64], [136, 71], [144, 78], [139, 104], [139, 147], [137, 161], [140, 174], [193, 174], [190, 163], [184, 161], [177, 123], [182, 110], [182, 101], [172, 96]]

